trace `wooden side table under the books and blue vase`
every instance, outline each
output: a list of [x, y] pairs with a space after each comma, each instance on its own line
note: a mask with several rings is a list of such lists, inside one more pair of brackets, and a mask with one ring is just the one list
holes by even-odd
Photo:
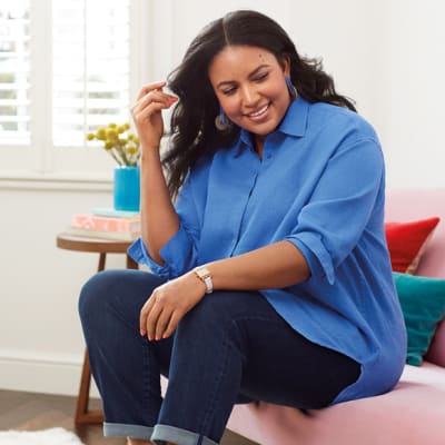
[[[88, 251], [99, 254], [98, 271], [105, 269], [107, 254], [125, 254], [127, 258], [127, 269], [137, 269], [138, 264], [127, 254], [131, 241], [120, 241], [113, 239], [99, 239], [73, 236], [70, 234], [59, 234], [56, 238], [57, 247], [67, 250]], [[79, 394], [76, 406], [76, 425], [100, 424], [103, 422], [101, 411], [89, 411], [91, 370], [88, 349], [85, 350], [82, 374], [80, 378]]]

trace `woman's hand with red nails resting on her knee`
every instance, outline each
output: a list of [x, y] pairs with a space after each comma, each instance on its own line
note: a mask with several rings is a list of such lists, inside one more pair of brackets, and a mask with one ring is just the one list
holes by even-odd
[[157, 287], [140, 310], [140, 335], [149, 340], [169, 337], [205, 295], [206, 286], [194, 271]]

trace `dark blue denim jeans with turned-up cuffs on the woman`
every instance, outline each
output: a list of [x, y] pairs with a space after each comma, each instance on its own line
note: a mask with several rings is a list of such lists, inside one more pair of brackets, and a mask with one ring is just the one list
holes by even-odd
[[162, 283], [144, 270], [106, 270], [81, 290], [105, 435], [218, 444], [236, 403], [319, 408], [358, 378], [355, 360], [307, 340], [257, 291], [206, 295], [172, 337], [149, 342], [139, 312]]

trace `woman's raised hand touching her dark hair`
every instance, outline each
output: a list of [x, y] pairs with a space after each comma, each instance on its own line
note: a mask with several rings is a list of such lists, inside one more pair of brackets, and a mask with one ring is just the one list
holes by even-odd
[[165, 81], [144, 86], [131, 108], [142, 152], [147, 149], [159, 150], [164, 135], [161, 111], [170, 108], [178, 100], [176, 96], [162, 91], [165, 86]]

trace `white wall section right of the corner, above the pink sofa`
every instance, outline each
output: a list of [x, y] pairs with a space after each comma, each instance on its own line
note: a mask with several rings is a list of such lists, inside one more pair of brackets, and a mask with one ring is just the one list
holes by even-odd
[[445, 3], [392, 0], [380, 113], [389, 185], [445, 184]]

